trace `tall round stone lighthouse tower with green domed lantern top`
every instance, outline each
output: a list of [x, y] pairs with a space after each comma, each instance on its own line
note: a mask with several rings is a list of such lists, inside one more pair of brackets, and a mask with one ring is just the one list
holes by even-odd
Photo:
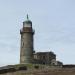
[[32, 22], [27, 20], [23, 22], [23, 28], [20, 30], [21, 48], [20, 48], [20, 63], [28, 64], [33, 62], [33, 35]]

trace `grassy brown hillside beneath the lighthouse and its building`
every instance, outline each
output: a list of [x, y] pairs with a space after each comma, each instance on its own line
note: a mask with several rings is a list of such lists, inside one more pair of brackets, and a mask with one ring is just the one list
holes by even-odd
[[0, 75], [75, 75], [75, 67], [44, 65], [11, 65], [0, 68]]

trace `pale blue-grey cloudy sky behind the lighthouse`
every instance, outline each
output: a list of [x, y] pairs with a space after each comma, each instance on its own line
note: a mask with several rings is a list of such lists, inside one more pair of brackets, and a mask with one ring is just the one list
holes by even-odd
[[35, 29], [34, 49], [75, 64], [75, 0], [0, 0], [0, 66], [19, 63], [27, 13]]

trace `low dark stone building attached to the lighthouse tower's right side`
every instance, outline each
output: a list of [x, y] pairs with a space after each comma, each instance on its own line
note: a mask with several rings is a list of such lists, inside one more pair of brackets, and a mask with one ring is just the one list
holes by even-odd
[[56, 55], [53, 52], [37, 52], [34, 54], [35, 63], [37, 64], [51, 64], [56, 63]]

